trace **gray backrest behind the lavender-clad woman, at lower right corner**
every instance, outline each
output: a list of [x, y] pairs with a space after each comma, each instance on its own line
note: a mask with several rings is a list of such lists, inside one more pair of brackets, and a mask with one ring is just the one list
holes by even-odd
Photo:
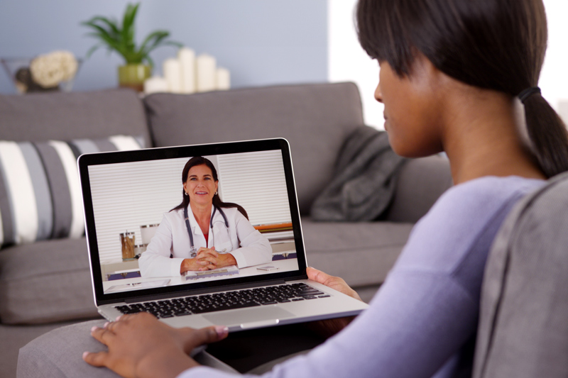
[[568, 377], [568, 173], [509, 214], [481, 291], [474, 377]]

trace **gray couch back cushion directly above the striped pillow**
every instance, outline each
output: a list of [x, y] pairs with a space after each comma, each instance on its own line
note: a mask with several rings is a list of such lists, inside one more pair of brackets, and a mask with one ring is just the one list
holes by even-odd
[[143, 135], [150, 140], [138, 94], [129, 89], [0, 95], [4, 140], [71, 140]]

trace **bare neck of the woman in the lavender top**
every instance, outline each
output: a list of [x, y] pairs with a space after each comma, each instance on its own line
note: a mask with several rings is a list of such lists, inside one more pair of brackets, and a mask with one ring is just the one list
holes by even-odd
[[545, 179], [523, 143], [515, 101], [498, 91], [468, 91], [449, 97], [445, 108], [442, 143], [454, 184], [484, 176]]

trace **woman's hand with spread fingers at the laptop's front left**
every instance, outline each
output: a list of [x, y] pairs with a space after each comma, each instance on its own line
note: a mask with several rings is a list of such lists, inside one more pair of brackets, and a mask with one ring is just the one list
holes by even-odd
[[107, 345], [107, 352], [83, 353], [89, 365], [108, 367], [123, 377], [176, 377], [197, 366], [193, 348], [226, 338], [226, 327], [172, 328], [149, 313], [119, 316], [91, 335]]

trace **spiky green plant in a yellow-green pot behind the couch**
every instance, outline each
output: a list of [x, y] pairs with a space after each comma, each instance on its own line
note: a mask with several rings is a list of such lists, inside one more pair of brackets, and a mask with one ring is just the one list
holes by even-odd
[[182, 47], [182, 44], [168, 40], [168, 31], [155, 30], [137, 46], [134, 40], [134, 21], [138, 6], [140, 3], [126, 6], [122, 25], [114, 18], [102, 16], [94, 16], [89, 21], [82, 22], [82, 25], [91, 28], [93, 31], [89, 35], [100, 41], [87, 52], [87, 57], [103, 46], [109, 51], [118, 52], [126, 61], [126, 65], [119, 67], [119, 85], [142, 91], [144, 80], [150, 77], [153, 67], [150, 52], [164, 45]]

